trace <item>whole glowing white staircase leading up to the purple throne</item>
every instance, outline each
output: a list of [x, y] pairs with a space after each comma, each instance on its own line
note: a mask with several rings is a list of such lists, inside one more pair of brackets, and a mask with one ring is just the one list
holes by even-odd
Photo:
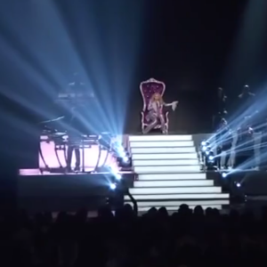
[[[229, 194], [200, 171], [191, 135], [133, 135], [129, 142], [138, 174], [130, 192], [140, 212], [153, 206], [174, 211], [182, 204], [218, 209], [229, 205]], [[130, 203], [128, 197], [125, 202]]]

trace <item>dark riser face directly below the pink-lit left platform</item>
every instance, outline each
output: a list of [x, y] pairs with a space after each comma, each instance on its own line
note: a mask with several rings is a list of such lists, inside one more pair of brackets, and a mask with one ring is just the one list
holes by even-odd
[[[132, 187], [134, 174], [122, 174], [124, 186]], [[49, 174], [19, 176], [18, 198], [89, 198], [109, 196], [113, 174]]]

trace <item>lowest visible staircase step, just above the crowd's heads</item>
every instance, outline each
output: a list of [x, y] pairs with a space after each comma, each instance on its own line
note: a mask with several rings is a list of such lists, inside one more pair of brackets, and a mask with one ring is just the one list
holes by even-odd
[[[133, 205], [131, 201], [125, 201], [125, 204]], [[169, 206], [169, 207], [175, 207], [178, 208], [182, 204], [186, 204], [188, 206], [217, 206], [217, 205], [229, 205], [230, 200], [229, 199], [219, 199], [219, 200], [186, 200], [186, 201], [138, 201], [138, 209], [142, 207], [147, 206]]]

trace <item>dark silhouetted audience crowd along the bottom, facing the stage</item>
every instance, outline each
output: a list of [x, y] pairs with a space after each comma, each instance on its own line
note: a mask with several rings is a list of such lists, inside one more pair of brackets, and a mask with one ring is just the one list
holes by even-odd
[[1, 266], [267, 266], [267, 213], [220, 214], [182, 205], [174, 214], [137, 206], [96, 218], [77, 214], [5, 215], [1, 221]]

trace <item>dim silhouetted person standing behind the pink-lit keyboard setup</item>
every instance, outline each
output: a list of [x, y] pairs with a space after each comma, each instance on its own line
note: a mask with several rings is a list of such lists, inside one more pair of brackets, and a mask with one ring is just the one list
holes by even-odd
[[70, 118], [69, 122], [69, 131], [68, 131], [69, 143], [67, 151], [67, 170], [69, 172], [72, 171], [71, 159], [73, 151], [75, 152], [75, 157], [76, 157], [75, 171], [79, 171], [80, 169], [81, 155], [80, 155], [79, 144], [81, 142], [81, 134], [77, 130], [78, 129], [77, 125], [78, 125], [77, 111], [75, 109], [72, 109], [72, 117]]

